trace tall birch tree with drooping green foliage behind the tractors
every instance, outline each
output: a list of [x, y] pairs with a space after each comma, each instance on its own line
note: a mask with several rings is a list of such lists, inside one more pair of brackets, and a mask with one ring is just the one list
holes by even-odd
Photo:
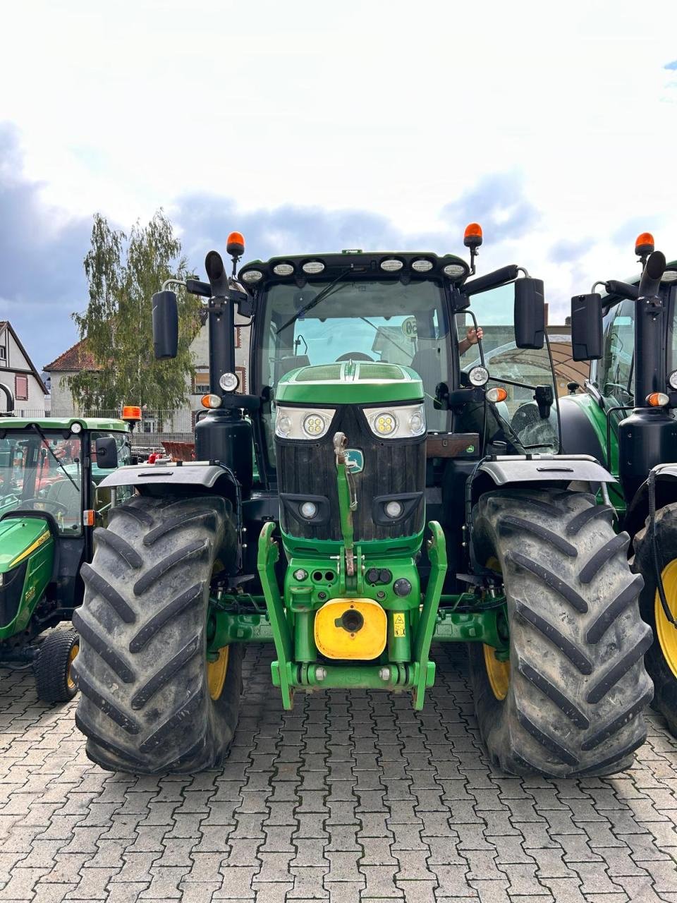
[[97, 213], [91, 242], [85, 257], [88, 307], [72, 316], [97, 369], [70, 377], [73, 400], [84, 410], [180, 407], [188, 395], [186, 377], [194, 374], [190, 343], [199, 332], [200, 310], [199, 300], [180, 286], [172, 286], [179, 303], [178, 356], [153, 356], [153, 293], [165, 279], [191, 275], [172, 223], [160, 210], [147, 226], [136, 223], [127, 237]]

